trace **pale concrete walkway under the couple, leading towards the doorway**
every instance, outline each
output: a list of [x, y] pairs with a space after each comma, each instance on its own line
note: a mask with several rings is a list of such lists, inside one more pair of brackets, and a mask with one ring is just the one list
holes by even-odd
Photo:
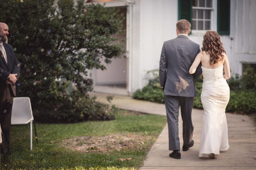
[[[166, 116], [164, 104], [134, 100], [128, 96], [115, 95], [112, 102], [106, 100], [107, 94], [91, 93], [97, 96], [97, 100], [110, 105], [116, 105], [120, 109], [138, 111], [148, 114]], [[203, 111], [192, 110], [194, 125], [194, 146], [188, 151], [181, 149], [181, 159], [169, 157], [168, 128], [167, 125], [160, 133], [158, 139], [150, 149], [142, 170], [165, 170], [165, 169], [254, 169], [256, 170], [256, 128], [245, 115], [227, 113], [229, 149], [221, 152], [217, 159], [199, 158], [199, 144], [201, 137]], [[182, 147], [182, 121], [179, 118], [179, 137]]]

